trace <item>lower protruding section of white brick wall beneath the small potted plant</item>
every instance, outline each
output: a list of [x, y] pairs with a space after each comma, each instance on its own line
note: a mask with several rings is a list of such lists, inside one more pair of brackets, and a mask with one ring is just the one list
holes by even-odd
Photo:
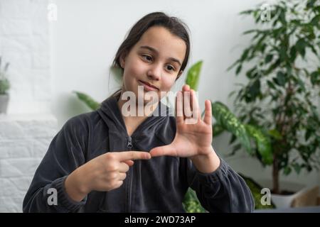
[[23, 197], [57, 121], [48, 115], [0, 115], [0, 212], [21, 212]]

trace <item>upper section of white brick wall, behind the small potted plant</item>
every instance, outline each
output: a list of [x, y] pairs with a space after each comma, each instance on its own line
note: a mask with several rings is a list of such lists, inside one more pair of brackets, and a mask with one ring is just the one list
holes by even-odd
[[0, 55], [10, 62], [9, 114], [48, 112], [48, 1], [0, 0]]

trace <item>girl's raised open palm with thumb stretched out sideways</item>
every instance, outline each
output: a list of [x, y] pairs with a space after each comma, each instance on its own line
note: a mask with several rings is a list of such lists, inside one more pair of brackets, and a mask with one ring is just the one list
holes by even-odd
[[[187, 92], [190, 92], [190, 96], [186, 95]], [[206, 100], [205, 106], [205, 115], [202, 120], [196, 93], [188, 85], [184, 85], [182, 91], [179, 91], [176, 97], [177, 116], [174, 141], [169, 145], [151, 149], [151, 156], [194, 157], [196, 155], [206, 156], [213, 153], [211, 145], [211, 102]]]

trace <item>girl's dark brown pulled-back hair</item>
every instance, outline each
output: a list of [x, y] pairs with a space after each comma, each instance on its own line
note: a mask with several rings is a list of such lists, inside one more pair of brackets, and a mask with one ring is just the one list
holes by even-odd
[[[164, 27], [168, 29], [168, 31], [170, 31], [173, 35], [178, 36], [186, 43], [186, 55], [181, 64], [179, 72], [186, 68], [190, 53], [190, 38], [188, 34], [188, 26], [186, 26], [186, 24], [183, 23], [183, 21], [181, 21], [180, 19], [174, 16], [167, 16], [162, 12], [149, 13], [141, 18], [137, 23], [135, 23], [134, 26], [132, 26], [129, 34], [127, 35], [127, 38], [124, 39], [119, 49], [117, 50], [117, 53], [113, 60], [113, 67], [122, 69], [120, 65], [120, 57], [127, 55], [132, 47], [139, 42], [142, 35], [152, 26]], [[114, 92], [114, 94], [117, 94], [119, 91], [121, 91], [121, 89], [117, 92]], [[112, 96], [114, 94], [112, 94]]]

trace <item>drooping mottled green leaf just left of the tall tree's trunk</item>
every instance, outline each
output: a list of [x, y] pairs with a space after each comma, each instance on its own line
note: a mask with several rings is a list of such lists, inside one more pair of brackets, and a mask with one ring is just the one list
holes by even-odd
[[262, 133], [262, 131], [256, 126], [247, 124], [245, 125], [245, 129], [250, 137], [255, 140], [257, 150], [262, 157], [262, 162], [264, 162], [266, 165], [272, 164], [273, 156], [270, 138]]

